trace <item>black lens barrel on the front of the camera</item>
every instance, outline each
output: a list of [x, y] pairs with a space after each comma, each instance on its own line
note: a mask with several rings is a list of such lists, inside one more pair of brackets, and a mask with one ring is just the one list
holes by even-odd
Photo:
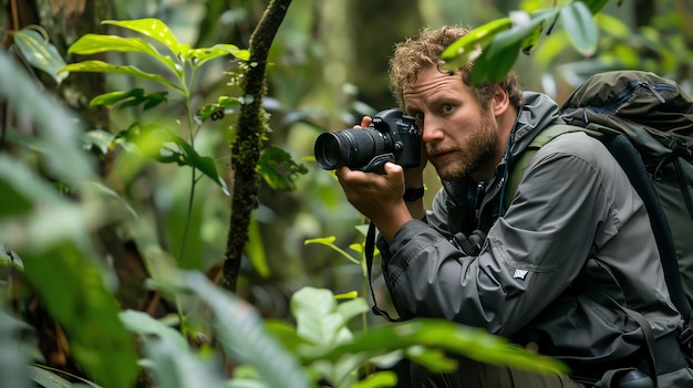
[[359, 169], [383, 154], [385, 146], [385, 137], [375, 129], [328, 132], [316, 139], [316, 161], [325, 170], [341, 166]]

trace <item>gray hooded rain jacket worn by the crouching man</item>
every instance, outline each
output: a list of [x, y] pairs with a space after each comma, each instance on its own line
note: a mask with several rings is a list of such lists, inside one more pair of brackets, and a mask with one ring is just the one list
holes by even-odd
[[[525, 97], [505, 159], [561, 123], [548, 96]], [[642, 348], [642, 329], [612, 301], [643, 314], [656, 338], [682, 327], [642, 200], [599, 140], [578, 132], [541, 147], [498, 218], [505, 159], [487, 182], [443, 182], [425, 220], [407, 222], [390, 247], [379, 242], [401, 315], [535, 343], [575, 375], [597, 374]], [[474, 230], [487, 235], [478, 255], [465, 255], [451, 240]], [[674, 375], [660, 387], [693, 387], [691, 369]]]

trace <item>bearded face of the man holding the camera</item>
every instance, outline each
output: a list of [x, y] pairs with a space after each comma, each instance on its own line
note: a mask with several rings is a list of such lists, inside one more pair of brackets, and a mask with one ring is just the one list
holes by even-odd
[[[499, 133], [490, 107], [483, 108], [461, 73], [431, 66], [403, 91], [406, 114], [422, 129], [428, 160], [444, 180], [484, 180], [498, 162]], [[487, 104], [490, 106], [490, 104]]]

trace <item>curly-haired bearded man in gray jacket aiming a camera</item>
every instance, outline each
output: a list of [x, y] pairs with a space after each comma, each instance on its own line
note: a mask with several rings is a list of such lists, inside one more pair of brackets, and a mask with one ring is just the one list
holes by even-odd
[[421, 196], [403, 199], [405, 189], [423, 187], [425, 160], [406, 170], [387, 162], [384, 175], [346, 167], [337, 175], [381, 233], [384, 277], [401, 315], [487, 328], [561, 359], [571, 374], [461, 359], [456, 374], [413, 374], [414, 385], [591, 387], [611, 369], [649, 374], [643, 329], [621, 305], [642, 314], [656, 338], [659, 387], [693, 387], [675, 339], [683, 319], [642, 200], [600, 141], [576, 132], [541, 147], [505, 209], [506, 165], [562, 120], [555, 102], [523, 93], [513, 74], [470, 86], [470, 67], [441, 71], [443, 50], [467, 32], [424, 29], [397, 44], [390, 63], [392, 92], [416, 119], [443, 182], [432, 210]]

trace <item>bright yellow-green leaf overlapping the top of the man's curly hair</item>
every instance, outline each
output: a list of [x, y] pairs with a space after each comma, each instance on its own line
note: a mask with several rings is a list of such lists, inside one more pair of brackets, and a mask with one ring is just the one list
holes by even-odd
[[469, 62], [474, 62], [480, 54], [480, 51], [496, 34], [509, 29], [513, 21], [509, 18], [504, 18], [473, 29], [443, 51], [441, 59], [445, 61], [445, 64], [442, 69], [456, 71], [466, 66]]

